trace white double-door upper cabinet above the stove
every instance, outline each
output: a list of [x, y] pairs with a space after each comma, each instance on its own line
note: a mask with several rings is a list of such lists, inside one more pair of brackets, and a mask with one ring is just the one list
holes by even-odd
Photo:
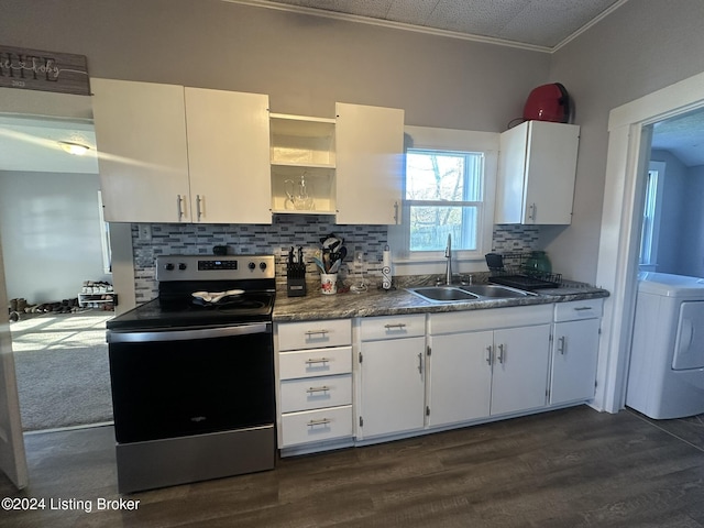
[[271, 223], [267, 96], [91, 87], [106, 220]]

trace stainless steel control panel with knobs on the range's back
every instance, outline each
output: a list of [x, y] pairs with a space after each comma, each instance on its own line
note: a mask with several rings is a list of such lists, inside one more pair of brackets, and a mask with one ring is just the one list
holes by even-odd
[[274, 255], [163, 255], [156, 257], [157, 280], [239, 280], [274, 278]]

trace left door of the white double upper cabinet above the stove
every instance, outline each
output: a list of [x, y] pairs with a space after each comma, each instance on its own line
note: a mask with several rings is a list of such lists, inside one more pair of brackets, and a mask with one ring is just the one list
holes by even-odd
[[90, 79], [109, 222], [191, 221], [184, 88]]

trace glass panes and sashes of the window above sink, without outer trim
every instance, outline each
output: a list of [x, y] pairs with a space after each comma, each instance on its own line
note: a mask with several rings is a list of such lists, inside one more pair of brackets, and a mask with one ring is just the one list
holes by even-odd
[[406, 152], [405, 200], [409, 251], [479, 248], [484, 154], [410, 148]]

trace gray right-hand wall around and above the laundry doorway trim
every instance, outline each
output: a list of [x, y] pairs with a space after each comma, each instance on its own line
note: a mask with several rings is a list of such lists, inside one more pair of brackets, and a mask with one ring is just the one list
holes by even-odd
[[608, 112], [704, 72], [703, 20], [701, 0], [632, 0], [553, 55], [582, 131], [572, 226], [543, 228], [541, 244], [570, 278], [596, 278]]

